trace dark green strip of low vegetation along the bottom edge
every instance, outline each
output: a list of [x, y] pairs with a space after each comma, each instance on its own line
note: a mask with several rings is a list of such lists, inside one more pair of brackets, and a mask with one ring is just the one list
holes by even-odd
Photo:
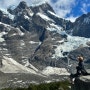
[[2, 90], [70, 90], [69, 81], [42, 83], [39, 85], [30, 84], [28, 88], [7, 88]]

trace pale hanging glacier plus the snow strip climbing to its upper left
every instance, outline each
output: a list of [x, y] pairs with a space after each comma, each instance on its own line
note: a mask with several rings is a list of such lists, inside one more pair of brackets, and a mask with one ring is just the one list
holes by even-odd
[[[63, 52], [70, 52], [72, 50], [77, 49], [80, 46], [86, 47], [88, 46], [86, 43], [90, 42], [90, 38], [85, 38], [85, 37], [79, 37], [79, 36], [72, 36], [68, 35], [62, 27], [52, 23], [50, 24], [50, 27], [47, 27], [47, 30], [49, 31], [56, 31], [60, 35], [67, 35], [67, 40], [65, 39], [61, 41], [57, 41], [60, 43], [60, 45], [56, 45], [57, 48], [55, 49], [55, 54], [53, 55], [52, 58], [56, 57], [64, 57]], [[54, 38], [52, 38], [54, 40]], [[61, 44], [63, 43], [63, 44]]]

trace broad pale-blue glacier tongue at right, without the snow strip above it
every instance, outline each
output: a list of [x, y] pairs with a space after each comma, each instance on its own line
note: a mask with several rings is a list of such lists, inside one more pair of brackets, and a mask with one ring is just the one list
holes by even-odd
[[70, 52], [79, 48], [80, 46], [86, 47], [88, 46], [86, 43], [90, 42], [90, 38], [78, 37], [78, 36], [70, 36], [67, 37], [67, 42], [60, 44], [55, 49], [55, 54], [53, 57], [64, 57], [62, 52]]

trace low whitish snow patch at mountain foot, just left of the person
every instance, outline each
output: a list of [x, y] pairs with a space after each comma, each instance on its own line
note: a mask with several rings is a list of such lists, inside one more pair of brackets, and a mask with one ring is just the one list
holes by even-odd
[[43, 71], [43, 74], [49, 75], [70, 75], [65, 68], [57, 68], [57, 67], [46, 67]]

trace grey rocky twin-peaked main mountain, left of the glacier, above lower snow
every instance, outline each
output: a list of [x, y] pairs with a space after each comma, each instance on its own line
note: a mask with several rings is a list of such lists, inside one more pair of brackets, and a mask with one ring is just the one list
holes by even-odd
[[6, 50], [1, 52], [1, 58], [8, 54], [23, 65], [27, 62], [37, 68], [50, 65], [47, 63], [53, 60], [55, 45], [66, 38], [61, 31], [69, 29], [68, 24], [72, 23], [57, 17], [48, 3], [29, 7], [22, 1], [14, 9], [8, 8], [8, 13], [14, 16], [13, 20], [0, 11], [0, 33], [5, 33], [0, 45], [1, 50]]

